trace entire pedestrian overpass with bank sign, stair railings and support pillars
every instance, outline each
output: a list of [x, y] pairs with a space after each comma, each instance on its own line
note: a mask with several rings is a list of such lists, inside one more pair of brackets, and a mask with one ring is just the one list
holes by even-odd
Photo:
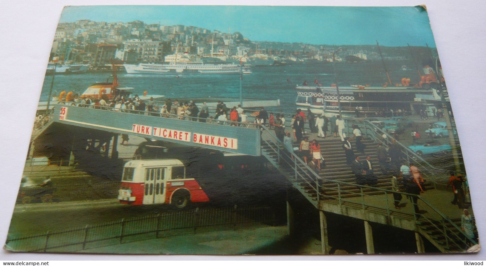
[[[375, 253], [372, 224], [381, 224], [415, 232], [417, 252], [425, 252], [423, 239], [430, 241], [441, 252], [464, 252], [477, 244], [460, 229], [457, 217], [449, 214], [449, 205], [438, 203], [444, 193], [428, 192], [434, 197], [417, 196], [405, 192], [392, 191], [388, 188], [358, 185], [326, 178], [307, 166], [294, 150], [275, 136], [265, 126], [259, 128], [218, 124], [209, 119], [207, 123], [191, 121], [176, 115], [161, 117], [160, 114], [129, 111], [113, 111], [113, 108], [87, 108], [57, 104], [53, 111], [53, 122], [79, 126], [112, 133], [132, 134], [145, 138], [174, 142], [196, 147], [236, 152], [247, 155], [263, 155], [275, 168], [286, 177], [292, 186], [308, 200], [318, 211], [321, 229], [322, 253], [329, 254], [328, 214], [337, 214], [364, 221], [366, 250]], [[368, 121], [345, 118], [345, 132], [352, 134], [351, 124], [359, 125], [364, 137], [375, 143], [389, 145], [392, 136], [378, 129]], [[209, 123], [211, 122], [211, 123]], [[382, 134], [387, 138], [383, 139]], [[401, 157], [414, 162], [426, 178], [434, 179], [438, 173], [447, 172], [428, 164], [407, 147], [401, 146]], [[330, 147], [327, 147], [330, 149]], [[326, 148], [325, 148], [326, 149]], [[340, 149], [340, 148], [339, 148]], [[335, 166], [331, 166], [335, 167]], [[413, 204], [399, 210], [393, 206], [393, 194], [403, 198], [417, 197], [418, 205], [423, 210], [417, 213]], [[431, 196], [433, 196], [431, 195]], [[447, 202], [446, 202], [447, 203]], [[289, 233], [293, 231], [293, 209], [287, 202]]]

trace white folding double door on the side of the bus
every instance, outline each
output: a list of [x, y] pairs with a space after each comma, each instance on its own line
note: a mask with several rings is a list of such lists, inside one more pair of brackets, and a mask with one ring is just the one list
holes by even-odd
[[143, 204], [164, 203], [166, 195], [166, 167], [145, 168]]

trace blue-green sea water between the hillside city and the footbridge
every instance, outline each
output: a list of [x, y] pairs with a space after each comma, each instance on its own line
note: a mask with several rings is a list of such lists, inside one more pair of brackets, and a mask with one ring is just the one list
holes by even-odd
[[[401, 66], [409, 66], [402, 70]], [[417, 69], [412, 61], [386, 62], [392, 83], [400, 83], [404, 77], [411, 79], [411, 84], [418, 83]], [[310, 86], [314, 80], [322, 86], [335, 83], [332, 63], [289, 64], [286, 66], [255, 66], [252, 74], [243, 75], [243, 98], [280, 100], [280, 107], [271, 108], [280, 112], [295, 112], [296, 85], [304, 81]], [[382, 86], [388, 82], [382, 62], [336, 63], [338, 84], [370, 84]], [[238, 74], [127, 74], [118, 73], [121, 87], [133, 87], [134, 93], [142, 95], [144, 91], [152, 95], [164, 95], [166, 98], [200, 98], [200, 97], [240, 97], [240, 75]], [[287, 81], [287, 79], [289, 81]], [[85, 89], [96, 82], [111, 82], [109, 72], [56, 75], [52, 95], [61, 91], [74, 91], [82, 94]], [[52, 76], [46, 76], [42, 87], [40, 101], [49, 97]], [[232, 107], [232, 106], [228, 106]]]

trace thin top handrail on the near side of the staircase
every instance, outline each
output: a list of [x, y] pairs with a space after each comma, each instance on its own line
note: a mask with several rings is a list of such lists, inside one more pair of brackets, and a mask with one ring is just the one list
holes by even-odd
[[[312, 181], [314, 181], [314, 180], [312, 179], [312, 176], [309, 174], [309, 172], [310, 172], [310, 173], [312, 173], [312, 175], [314, 176], [314, 179], [315, 179], [315, 180], [322, 180], [322, 181], [325, 181], [325, 182], [338, 183], [338, 184], [353, 185], [353, 186], [358, 186], [358, 187], [360, 187], [360, 188], [368, 188], [368, 189], [372, 189], [372, 190], [383, 191], [383, 192], [385, 192], [385, 194], [398, 193], [398, 194], [401, 194], [401, 195], [404, 195], [404, 196], [417, 197], [417, 199], [421, 200], [421, 201], [422, 201], [423, 203], [425, 203], [425, 204], [426, 204], [428, 207], [430, 207], [430, 208], [431, 208], [431, 209], [434, 211], [434, 213], [436, 213], [437, 215], [439, 215], [440, 217], [442, 217], [442, 219], [444, 219], [445, 221], [449, 222], [449, 223], [450, 223], [450, 224], [451, 224], [451, 225], [452, 225], [452, 226], [453, 226], [455, 229], [457, 229], [459, 232], [461, 232], [461, 233], [462, 233], [462, 234], [465, 236], [465, 238], [467, 238], [467, 239], [468, 239], [468, 240], [469, 240], [469, 241], [470, 241], [470, 242], [471, 242], [473, 245], [476, 245], [476, 244], [477, 244], [477, 242], [476, 242], [476, 241], [474, 241], [474, 239], [472, 239], [471, 237], [469, 237], [468, 235], [466, 235], [466, 234], [465, 234], [465, 233], [464, 233], [464, 232], [463, 232], [463, 231], [462, 231], [462, 230], [461, 230], [461, 229], [460, 229], [460, 228], [459, 228], [459, 227], [458, 227], [458, 226], [457, 226], [457, 225], [456, 225], [456, 224], [455, 224], [455, 223], [454, 223], [454, 222], [453, 222], [453, 221], [452, 221], [452, 220], [451, 220], [451, 219], [450, 219], [448, 216], [446, 216], [446, 215], [444, 215], [443, 213], [441, 213], [441, 212], [440, 212], [440, 211], [439, 211], [437, 208], [435, 208], [435, 207], [434, 207], [434, 206], [433, 206], [431, 203], [429, 203], [427, 200], [424, 200], [424, 199], [423, 199], [422, 197], [420, 197], [419, 195], [416, 195], [416, 194], [410, 194], [410, 193], [406, 193], [406, 192], [397, 192], [397, 191], [393, 191], [393, 190], [390, 190], [390, 189], [384, 189], [384, 188], [379, 188], [379, 187], [372, 187], [372, 186], [367, 186], [367, 185], [360, 185], [360, 184], [356, 184], [356, 183], [349, 183], [349, 182], [343, 182], [343, 181], [331, 180], [331, 179], [327, 179], [327, 178], [320, 177], [320, 176], [319, 176], [319, 175], [318, 175], [316, 172], [314, 172], [314, 171], [313, 171], [313, 170], [312, 170], [312, 169], [311, 169], [311, 168], [310, 168], [310, 167], [309, 167], [307, 164], [305, 164], [305, 163], [302, 161], [302, 159], [300, 159], [300, 157], [299, 157], [298, 155], [296, 155], [296, 154], [294, 153], [294, 150], [289, 150], [289, 149], [288, 149], [288, 148], [287, 148], [287, 147], [286, 147], [286, 146], [285, 146], [285, 145], [284, 145], [284, 144], [283, 144], [283, 143], [280, 141], [280, 139], [278, 139], [278, 137], [277, 137], [276, 135], [274, 135], [274, 134], [273, 134], [273, 133], [272, 133], [272, 132], [271, 132], [271, 131], [270, 131], [270, 130], [267, 128], [267, 127], [265, 127], [264, 125], [260, 125], [260, 128], [261, 128], [261, 130], [262, 130], [262, 131], [265, 131], [265, 132], [266, 132], [266, 133], [268, 133], [268, 134], [269, 134], [269, 135], [270, 135], [270, 136], [271, 136], [271, 137], [272, 137], [274, 140], [276, 140], [277, 145], [281, 145], [281, 146], [282, 146], [284, 149], [286, 149], [286, 150], [287, 150], [287, 151], [288, 151], [288, 152], [289, 152], [291, 155], [293, 155], [293, 156], [294, 156], [294, 158], [295, 158], [295, 160], [296, 160], [296, 161], [298, 161], [299, 163], [303, 164], [303, 165], [306, 167], [306, 169], [308, 170], [308, 172], [306, 172], [306, 174], [307, 174], [307, 176], [309, 176], [309, 177], [311, 178], [311, 180], [312, 180]], [[264, 141], [265, 141], [265, 140], [264, 140]], [[265, 142], [266, 142], [266, 141], [265, 141]], [[264, 154], [264, 152], [262, 152], [262, 154]], [[282, 157], [282, 156], [281, 156], [281, 153], [277, 153], [277, 156]], [[271, 162], [271, 163], [272, 163], [272, 162]], [[291, 166], [291, 165], [289, 164], [289, 166]], [[291, 166], [291, 167], [292, 167], [292, 166]], [[295, 171], [297, 171], [295, 168], [294, 168], [294, 170], [295, 170]], [[325, 195], [325, 194], [321, 194], [321, 193], [320, 193], [320, 191], [319, 191], [318, 187], [322, 187], [322, 185], [318, 184], [317, 189], [315, 189], [315, 188], [313, 187], [313, 185], [311, 185], [311, 187], [312, 187], [312, 190], [314, 190], [314, 191], [316, 192], [317, 199], [319, 199], [319, 198], [320, 198], [319, 196], [322, 196], [323, 198], [325, 198], [325, 197], [329, 197], [328, 195]], [[340, 189], [340, 186], [338, 186], [338, 190], [339, 190], [340, 192], [342, 192], [342, 191], [345, 191], [345, 192], [346, 192], [346, 190], [342, 190], [342, 189]], [[342, 193], [340, 193], [340, 194], [342, 194]], [[356, 193], [356, 194], [360, 194], [360, 193]], [[363, 193], [361, 193], [361, 194], [363, 194]], [[360, 194], [360, 195], [361, 195], [361, 194]], [[363, 194], [363, 196], [364, 196], [364, 194]], [[343, 199], [339, 198], [339, 200], [340, 200], [340, 201], [342, 201]], [[363, 203], [363, 204], [364, 204], [364, 203]], [[371, 206], [371, 205], [366, 205], [366, 206]], [[388, 205], [386, 206], [386, 208], [388, 208]], [[415, 214], [415, 210], [414, 210], [413, 212], [414, 212], [414, 214], [413, 214], [413, 215], [415, 216], [415, 215], [416, 215], [416, 214]], [[424, 218], [425, 218], [425, 219], [427, 219], [427, 220], [430, 220], [430, 219], [428, 219], [428, 218], [427, 218], [427, 217], [425, 217], [425, 216], [422, 216], [422, 217], [424, 217]], [[431, 224], [433, 224], [433, 223], [431, 223]], [[450, 231], [449, 233], [452, 233], [453, 235], [457, 236], [457, 234], [455, 234], [455, 233], [454, 233], [452, 230], [450, 230], [450, 229], [449, 229], [448, 231]], [[452, 240], [452, 241], [455, 243], [455, 241], [454, 241], [454, 240], [453, 240], [451, 237], [449, 237], [447, 233], [444, 233], [444, 237], [451, 239], [451, 240]], [[463, 242], [465, 245], [467, 245], [467, 243], [466, 243], [464, 240], [462, 240], [462, 238], [461, 238], [461, 237], [457, 236], [457, 238], [458, 238], [459, 240], [461, 240], [461, 241], [462, 241], [462, 242]]]

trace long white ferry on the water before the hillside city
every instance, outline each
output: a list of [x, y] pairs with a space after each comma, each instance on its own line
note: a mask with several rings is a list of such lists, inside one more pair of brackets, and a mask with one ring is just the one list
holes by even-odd
[[[169, 64], [144, 64], [125, 66], [128, 74], [170, 74], [170, 73], [199, 73], [199, 74], [240, 74], [237, 64], [205, 64], [202, 62], [170, 62]], [[251, 67], [243, 66], [243, 74], [251, 74]]]

